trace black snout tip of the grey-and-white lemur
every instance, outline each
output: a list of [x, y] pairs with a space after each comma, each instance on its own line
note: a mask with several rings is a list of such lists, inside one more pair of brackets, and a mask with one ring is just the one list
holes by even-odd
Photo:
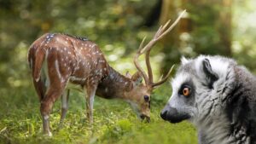
[[189, 114], [177, 112], [176, 108], [170, 107], [168, 104], [160, 113], [160, 117], [171, 123], [178, 123], [183, 121], [184, 119], [190, 118]]

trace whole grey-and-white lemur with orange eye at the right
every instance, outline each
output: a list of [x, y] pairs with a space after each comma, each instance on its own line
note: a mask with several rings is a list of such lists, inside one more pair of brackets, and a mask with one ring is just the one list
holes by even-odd
[[[184, 85], [191, 88], [189, 97], [180, 94]], [[256, 143], [256, 78], [221, 56], [183, 59], [161, 117], [171, 123], [189, 119], [201, 144]]]

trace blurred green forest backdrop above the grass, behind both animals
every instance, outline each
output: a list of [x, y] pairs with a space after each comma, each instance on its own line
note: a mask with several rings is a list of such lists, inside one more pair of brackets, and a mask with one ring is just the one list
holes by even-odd
[[187, 14], [151, 54], [156, 75], [181, 55], [200, 54], [229, 56], [256, 72], [255, 7], [253, 0], [1, 0], [0, 89], [31, 86], [27, 49], [45, 32], [88, 37], [111, 66], [134, 72], [143, 37], [183, 9]]

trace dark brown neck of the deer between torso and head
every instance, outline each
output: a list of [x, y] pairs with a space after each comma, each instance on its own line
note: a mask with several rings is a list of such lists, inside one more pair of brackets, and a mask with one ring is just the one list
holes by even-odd
[[96, 90], [96, 95], [107, 99], [125, 99], [125, 89], [130, 84], [131, 79], [126, 78], [119, 72], [116, 72], [111, 66], [108, 66], [108, 76], [102, 78], [102, 82]]

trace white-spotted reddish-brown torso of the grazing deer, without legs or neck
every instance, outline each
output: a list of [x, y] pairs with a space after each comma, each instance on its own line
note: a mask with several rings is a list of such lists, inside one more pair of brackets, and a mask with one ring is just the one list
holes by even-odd
[[50, 79], [69, 79], [75, 84], [97, 83], [108, 74], [108, 63], [101, 49], [85, 38], [45, 34], [32, 43], [29, 57], [33, 54], [31, 59], [34, 61], [42, 55], [39, 51], [43, 51]]

